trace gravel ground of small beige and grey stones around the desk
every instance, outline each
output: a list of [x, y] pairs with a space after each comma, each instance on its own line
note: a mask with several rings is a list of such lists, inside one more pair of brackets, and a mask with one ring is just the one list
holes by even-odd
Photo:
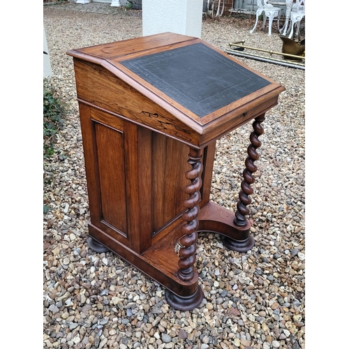
[[[44, 6], [43, 21], [49, 81], [68, 110], [57, 151], [44, 160], [44, 348], [305, 348], [304, 70], [237, 58], [286, 88], [262, 124], [250, 206], [256, 243], [235, 253], [219, 235], [200, 235], [196, 268], [205, 299], [198, 309], [175, 311], [156, 282], [87, 246], [89, 200], [66, 51], [141, 36], [142, 13], [64, 3]], [[246, 40], [281, 51], [275, 30], [249, 34], [253, 22], [204, 20], [202, 39], [220, 50]], [[211, 200], [234, 211], [250, 132], [248, 124], [217, 142]]]

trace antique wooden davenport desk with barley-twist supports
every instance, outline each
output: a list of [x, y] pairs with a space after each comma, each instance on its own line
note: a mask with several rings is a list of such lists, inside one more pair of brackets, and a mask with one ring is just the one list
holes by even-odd
[[[166, 288], [175, 309], [203, 297], [198, 232], [234, 251], [254, 244], [246, 219], [265, 112], [284, 87], [199, 38], [164, 33], [73, 56], [91, 221], [110, 250]], [[235, 214], [209, 201], [216, 140], [253, 121]]]

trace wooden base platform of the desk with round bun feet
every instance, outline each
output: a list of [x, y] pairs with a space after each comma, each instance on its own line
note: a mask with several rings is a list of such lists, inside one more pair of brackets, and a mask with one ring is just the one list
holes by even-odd
[[[235, 214], [232, 211], [214, 202], [207, 202], [198, 215], [198, 232], [221, 234], [223, 244], [228, 249], [248, 251], [254, 245], [254, 239], [249, 235], [251, 224], [247, 221], [246, 226], [240, 228], [234, 224], [234, 219]], [[185, 223], [178, 224], [174, 221], [166, 228], [169, 230], [168, 234], [142, 254], [136, 253], [89, 223], [89, 247], [98, 253], [112, 251], [166, 288], [165, 298], [174, 309], [191, 310], [200, 305], [203, 293], [198, 285], [198, 272], [194, 272], [190, 281], [183, 281], [177, 276], [179, 256], [175, 246], [183, 236], [181, 227]]]

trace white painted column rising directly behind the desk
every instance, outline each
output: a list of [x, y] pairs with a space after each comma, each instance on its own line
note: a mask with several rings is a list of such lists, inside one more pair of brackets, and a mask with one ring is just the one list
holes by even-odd
[[143, 36], [166, 31], [201, 38], [203, 0], [142, 0]]

